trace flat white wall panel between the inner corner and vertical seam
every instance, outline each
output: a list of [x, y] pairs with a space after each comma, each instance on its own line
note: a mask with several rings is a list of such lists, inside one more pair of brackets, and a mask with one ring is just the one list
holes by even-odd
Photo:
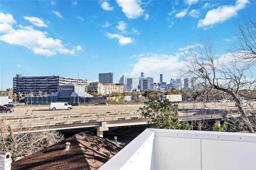
[[200, 139], [156, 137], [157, 170], [201, 169]]

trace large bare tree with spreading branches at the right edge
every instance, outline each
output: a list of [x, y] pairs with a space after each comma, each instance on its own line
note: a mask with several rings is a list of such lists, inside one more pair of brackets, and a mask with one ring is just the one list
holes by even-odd
[[183, 67], [186, 69], [181, 69], [180, 73], [182, 77], [192, 77], [197, 100], [204, 102], [213, 90], [218, 90], [238, 104], [240, 117], [231, 123], [233, 127], [256, 133], [255, 111], [248, 111], [240, 101], [240, 90], [252, 89], [256, 85], [248, 65], [238, 62], [240, 56], [233, 53], [218, 56], [214, 43], [208, 37], [199, 37], [199, 43], [188, 46], [186, 53]]

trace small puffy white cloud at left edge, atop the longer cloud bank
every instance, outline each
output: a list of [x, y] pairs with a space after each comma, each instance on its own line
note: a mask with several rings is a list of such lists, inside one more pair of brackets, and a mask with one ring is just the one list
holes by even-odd
[[12, 30], [12, 24], [16, 23], [11, 14], [0, 13], [0, 32], [6, 33]]

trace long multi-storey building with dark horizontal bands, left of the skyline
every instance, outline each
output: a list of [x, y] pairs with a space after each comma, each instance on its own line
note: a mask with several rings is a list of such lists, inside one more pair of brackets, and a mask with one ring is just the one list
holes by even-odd
[[79, 86], [84, 86], [84, 91], [87, 91], [87, 80], [82, 78], [71, 78], [64, 76], [22, 76], [16, 74], [13, 78], [13, 93], [14, 94], [39, 94], [39, 91], [48, 94], [57, 92], [57, 87], [68, 83], [76, 83]]

